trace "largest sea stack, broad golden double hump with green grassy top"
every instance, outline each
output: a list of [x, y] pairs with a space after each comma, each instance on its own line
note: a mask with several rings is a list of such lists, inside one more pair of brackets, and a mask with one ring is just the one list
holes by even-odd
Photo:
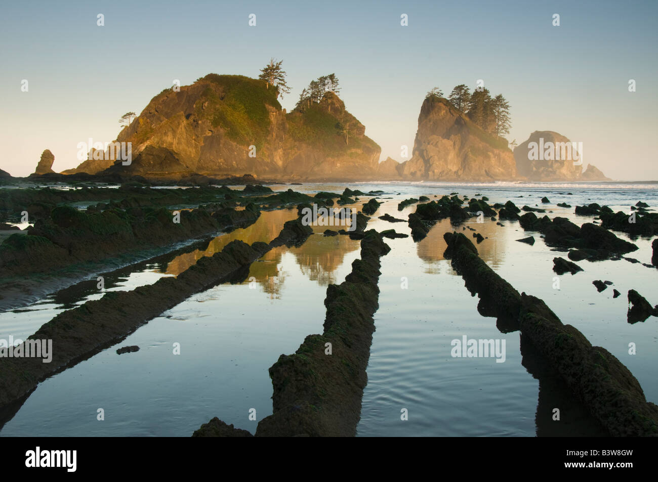
[[[118, 135], [132, 143], [128, 166], [102, 174], [178, 180], [190, 174], [272, 180], [374, 180], [380, 147], [326, 92], [286, 114], [263, 80], [209, 74], [180, 91], [164, 89]], [[85, 161], [75, 172], [89, 172]], [[70, 172], [70, 171], [69, 171]], [[97, 171], [101, 174], [101, 172]]]

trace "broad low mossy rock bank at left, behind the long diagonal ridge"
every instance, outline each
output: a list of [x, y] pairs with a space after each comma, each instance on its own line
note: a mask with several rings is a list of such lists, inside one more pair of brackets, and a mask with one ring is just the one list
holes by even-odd
[[[260, 213], [222, 208], [180, 211], [180, 222], [164, 208], [132, 208], [128, 212], [106, 209], [82, 212], [58, 206], [28, 234], [11, 235], [0, 244], [0, 274], [47, 272], [86, 260], [136, 251], [144, 245], [162, 246], [220, 228], [246, 226]], [[28, 208], [28, 211], [30, 208]]]

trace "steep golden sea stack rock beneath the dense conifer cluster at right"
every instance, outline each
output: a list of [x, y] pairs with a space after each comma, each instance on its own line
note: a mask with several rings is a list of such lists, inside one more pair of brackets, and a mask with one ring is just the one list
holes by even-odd
[[517, 166], [507, 141], [485, 132], [447, 99], [428, 97], [418, 116], [413, 156], [399, 172], [405, 179], [511, 180]]

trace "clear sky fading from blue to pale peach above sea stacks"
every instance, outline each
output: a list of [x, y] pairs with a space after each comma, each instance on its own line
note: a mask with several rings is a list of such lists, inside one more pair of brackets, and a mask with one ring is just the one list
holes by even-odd
[[56, 171], [77, 166], [79, 142], [112, 141], [120, 116], [141, 112], [174, 79], [257, 77], [275, 57], [292, 87], [284, 108], [335, 73], [382, 160], [404, 160], [401, 145], [411, 153], [428, 90], [482, 79], [511, 105], [509, 140], [553, 130], [582, 142], [584, 164], [611, 178], [658, 180], [657, 20], [655, 0], [7, 0], [0, 168], [26, 176], [43, 149]]

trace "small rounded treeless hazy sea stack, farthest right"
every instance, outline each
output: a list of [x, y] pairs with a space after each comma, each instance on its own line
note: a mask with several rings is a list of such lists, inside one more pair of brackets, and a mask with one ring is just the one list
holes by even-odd
[[517, 172], [529, 181], [609, 180], [592, 165], [582, 172], [581, 155], [581, 144], [553, 131], [535, 131], [514, 149]]

